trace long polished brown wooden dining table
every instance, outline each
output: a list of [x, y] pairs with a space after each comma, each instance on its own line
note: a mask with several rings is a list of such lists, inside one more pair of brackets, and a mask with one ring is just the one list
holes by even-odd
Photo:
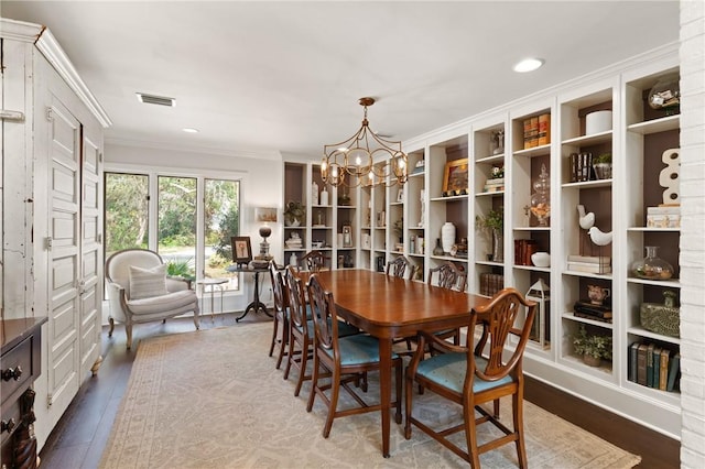
[[[311, 275], [301, 272], [307, 281]], [[369, 270], [335, 270], [316, 274], [335, 298], [338, 315], [379, 339], [382, 455], [390, 456], [392, 340], [420, 330], [467, 326], [468, 314], [489, 298], [399, 279]]]

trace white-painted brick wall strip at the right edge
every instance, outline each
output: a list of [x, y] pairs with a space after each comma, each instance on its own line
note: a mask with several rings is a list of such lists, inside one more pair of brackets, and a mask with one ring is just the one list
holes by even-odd
[[681, 1], [681, 467], [705, 467], [705, 2]]

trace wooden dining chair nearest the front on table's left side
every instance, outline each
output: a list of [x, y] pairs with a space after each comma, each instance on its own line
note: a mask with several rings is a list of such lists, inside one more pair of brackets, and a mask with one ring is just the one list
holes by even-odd
[[[314, 324], [314, 353], [313, 386], [306, 411], [313, 410], [315, 399], [319, 396], [328, 411], [323, 428], [323, 437], [327, 438], [336, 417], [381, 410], [381, 402], [368, 404], [350, 386], [350, 382], [359, 382], [360, 377], [364, 377], [361, 390], [367, 392], [367, 373], [380, 369], [379, 342], [366, 334], [339, 337], [338, 328], [341, 323], [338, 321], [333, 293], [324, 290], [317, 274], [308, 279], [307, 291]], [[395, 371], [395, 421], [401, 424], [402, 360], [397, 353], [392, 355], [392, 367]], [[324, 377], [329, 379], [323, 380]], [[350, 394], [358, 406], [338, 410], [340, 388]], [[326, 391], [329, 391], [328, 394]]]

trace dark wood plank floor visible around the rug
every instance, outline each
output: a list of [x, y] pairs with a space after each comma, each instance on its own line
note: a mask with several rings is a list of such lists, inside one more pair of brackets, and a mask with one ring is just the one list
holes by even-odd
[[[241, 323], [270, 320], [249, 314]], [[232, 314], [202, 319], [202, 328], [237, 327]], [[127, 389], [137, 345], [141, 338], [194, 330], [191, 319], [172, 319], [134, 327], [133, 351], [124, 348], [124, 329], [116, 327], [112, 338], [104, 330], [104, 362], [97, 377], [90, 378], [79, 390], [50, 435], [40, 457], [42, 469], [96, 468], [110, 435], [120, 401]], [[528, 379], [527, 400], [573, 422], [628, 451], [640, 455], [641, 468], [672, 469], [680, 467], [680, 443], [637, 425], [628, 419], [565, 394], [540, 381]]]

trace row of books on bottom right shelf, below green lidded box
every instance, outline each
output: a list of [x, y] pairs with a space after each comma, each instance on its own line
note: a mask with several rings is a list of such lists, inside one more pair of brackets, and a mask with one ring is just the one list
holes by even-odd
[[661, 391], [679, 391], [681, 355], [658, 343], [633, 342], [629, 346], [627, 379]]

